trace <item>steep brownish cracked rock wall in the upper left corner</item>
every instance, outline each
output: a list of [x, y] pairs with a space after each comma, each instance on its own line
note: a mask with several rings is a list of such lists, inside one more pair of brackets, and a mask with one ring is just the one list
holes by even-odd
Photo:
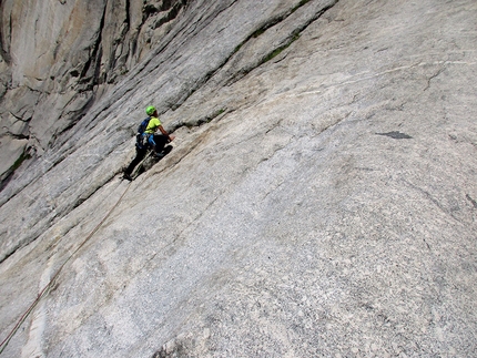
[[[0, 181], [11, 177], [23, 153], [41, 156], [59, 136], [71, 135], [69, 130], [101, 94], [171, 31], [186, 4], [2, 1]], [[28, 140], [20, 151], [18, 136]]]

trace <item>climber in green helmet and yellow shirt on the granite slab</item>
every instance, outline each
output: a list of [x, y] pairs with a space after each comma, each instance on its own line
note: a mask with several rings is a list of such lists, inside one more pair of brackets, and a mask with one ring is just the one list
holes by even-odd
[[[172, 146], [165, 146], [165, 144], [172, 142], [175, 137], [174, 135], [170, 135], [164, 130], [161, 121], [159, 120], [158, 110], [153, 105], [149, 105], [145, 109], [145, 113], [149, 115], [149, 117], [143, 121], [143, 123], [141, 123], [138, 130], [139, 133], [136, 136], [138, 141], [135, 143], [135, 157], [124, 170], [123, 177], [128, 181], [132, 181], [131, 173], [133, 172], [134, 167], [141, 163], [149, 150], [154, 151], [154, 156], [156, 158], [162, 158], [172, 150]], [[160, 131], [160, 134], [156, 134], [158, 130]]]

